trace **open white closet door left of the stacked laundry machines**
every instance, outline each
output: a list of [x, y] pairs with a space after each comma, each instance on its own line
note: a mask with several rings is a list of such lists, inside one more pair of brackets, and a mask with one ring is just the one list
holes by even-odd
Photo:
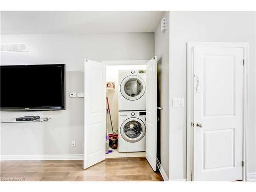
[[84, 169], [105, 159], [105, 74], [103, 63], [84, 61]]

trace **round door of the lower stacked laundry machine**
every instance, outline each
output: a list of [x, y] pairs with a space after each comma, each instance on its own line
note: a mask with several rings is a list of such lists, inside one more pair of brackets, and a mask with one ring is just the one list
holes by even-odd
[[121, 125], [122, 138], [131, 143], [140, 141], [145, 133], [145, 124], [138, 118], [126, 119]]

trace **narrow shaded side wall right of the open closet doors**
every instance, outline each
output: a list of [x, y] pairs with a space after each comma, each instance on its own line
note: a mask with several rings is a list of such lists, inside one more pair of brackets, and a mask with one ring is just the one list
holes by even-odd
[[166, 31], [161, 32], [161, 22], [155, 31], [155, 55], [158, 57], [158, 104], [160, 112], [160, 126], [158, 127], [159, 152], [158, 159], [169, 177], [169, 11], [165, 11]]

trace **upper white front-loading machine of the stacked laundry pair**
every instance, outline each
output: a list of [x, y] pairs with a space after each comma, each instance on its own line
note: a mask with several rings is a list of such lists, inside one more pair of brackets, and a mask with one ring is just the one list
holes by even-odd
[[146, 71], [119, 71], [118, 111], [146, 109]]

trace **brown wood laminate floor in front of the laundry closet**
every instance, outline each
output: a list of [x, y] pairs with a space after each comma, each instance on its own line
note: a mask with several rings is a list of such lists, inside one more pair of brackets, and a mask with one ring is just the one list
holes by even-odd
[[82, 160], [1, 161], [1, 181], [163, 181], [145, 157], [110, 158], [82, 167]]

